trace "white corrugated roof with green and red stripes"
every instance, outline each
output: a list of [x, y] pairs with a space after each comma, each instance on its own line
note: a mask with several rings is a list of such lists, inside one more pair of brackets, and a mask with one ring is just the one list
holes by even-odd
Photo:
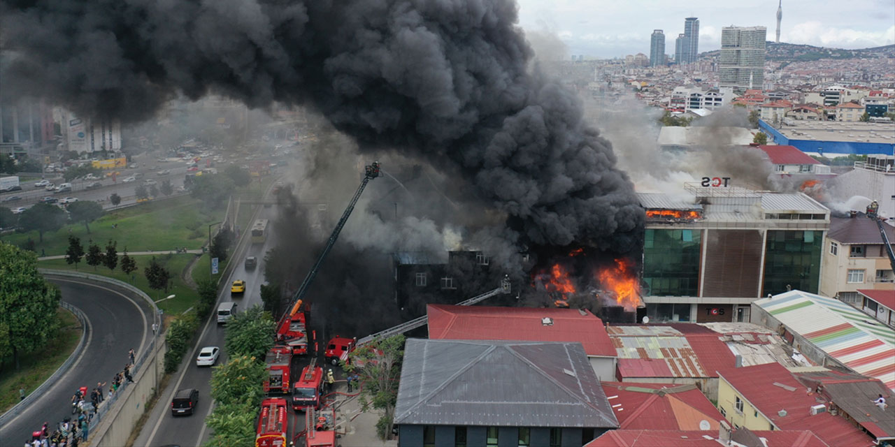
[[788, 291], [753, 301], [832, 358], [895, 390], [895, 331], [838, 299]]

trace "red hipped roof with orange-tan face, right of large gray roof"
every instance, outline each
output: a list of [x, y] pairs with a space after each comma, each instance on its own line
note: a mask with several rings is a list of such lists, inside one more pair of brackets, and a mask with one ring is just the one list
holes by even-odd
[[692, 384], [603, 382], [602, 386], [619, 428], [699, 430], [700, 423], [706, 421], [711, 430], [717, 431], [719, 421], [724, 419]]

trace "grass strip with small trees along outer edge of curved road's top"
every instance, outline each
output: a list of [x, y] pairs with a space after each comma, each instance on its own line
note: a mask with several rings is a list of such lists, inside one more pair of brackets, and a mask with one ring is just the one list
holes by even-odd
[[[165, 291], [155, 291], [149, 288], [149, 282], [146, 281], [146, 276], [143, 274], [143, 268], [149, 265], [149, 259], [152, 258], [150, 255], [133, 257], [137, 261], [137, 271], [132, 273], [133, 279], [118, 268], [109, 271], [106, 267], [98, 266], [94, 271], [93, 267], [88, 266], [83, 261], [78, 265], [78, 271], [89, 274], [101, 274], [103, 276], [115, 278], [119, 281], [124, 281], [125, 283], [131, 283], [141, 291], [145, 291], [150, 298], [156, 301], [164, 299], [168, 295], [176, 295], [175, 298], [165, 299], [164, 301], [158, 302], [158, 308], [164, 310], [166, 314], [180, 314], [184, 310], [192, 308], [199, 299], [198, 293], [183, 283], [183, 278], [181, 277], [183, 269], [186, 268], [186, 265], [190, 263], [190, 260], [192, 260], [193, 257], [195, 257], [195, 255], [160, 254], [156, 256], [156, 260], [162, 266], [165, 266], [174, 276], [171, 281], [172, 285], [171, 287], [168, 287], [167, 293]], [[121, 260], [119, 258], [119, 264], [120, 263]], [[38, 261], [38, 267], [74, 270], [74, 266], [65, 263], [65, 259]]]

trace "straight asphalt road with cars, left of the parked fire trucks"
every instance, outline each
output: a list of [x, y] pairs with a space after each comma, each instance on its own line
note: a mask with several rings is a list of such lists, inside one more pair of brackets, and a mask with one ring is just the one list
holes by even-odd
[[[259, 214], [259, 218], [273, 219], [276, 215], [276, 208], [263, 208]], [[225, 278], [226, 287], [218, 296], [218, 303], [224, 301], [234, 301], [237, 311], [250, 308], [261, 303], [260, 284], [264, 282], [264, 254], [268, 249], [275, 246], [275, 240], [268, 237], [268, 240], [262, 244], [249, 244], [243, 253], [235, 254], [238, 264], [234, 267], [233, 273]], [[244, 267], [245, 257], [257, 257], [258, 266], [251, 270]], [[231, 296], [228, 284], [234, 280], [244, 280], [246, 282], [246, 291], [242, 297]], [[216, 307], [217, 309], [217, 307]], [[166, 444], [178, 444], [184, 447], [192, 445], [201, 445], [209, 440], [210, 431], [205, 425], [205, 418], [209, 416], [213, 409], [211, 400], [211, 372], [210, 367], [197, 367], [195, 358], [199, 349], [205, 346], [217, 346], [221, 349], [220, 357], [217, 359], [217, 365], [226, 363], [226, 349], [224, 347], [224, 337], [226, 330], [223, 325], [217, 325], [217, 317], [212, 316], [208, 324], [202, 326], [202, 332], [199, 342], [192, 350], [187, 352], [187, 363], [183, 369], [179, 370], [172, 377], [170, 384], [162, 392], [158, 403], [152, 409], [152, 414], [143, 426], [141, 434], [137, 437], [134, 445], [159, 446]], [[308, 359], [303, 359], [307, 363]], [[298, 370], [301, 370], [299, 366]], [[174, 397], [176, 390], [184, 388], [195, 388], [199, 390], [199, 404], [196, 412], [192, 416], [174, 417], [171, 415], [170, 402]], [[290, 412], [290, 432], [297, 426], [297, 430], [304, 429], [304, 415], [295, 415], [292, 410]], [[295, 422], [297, 420], [297, 422]]]

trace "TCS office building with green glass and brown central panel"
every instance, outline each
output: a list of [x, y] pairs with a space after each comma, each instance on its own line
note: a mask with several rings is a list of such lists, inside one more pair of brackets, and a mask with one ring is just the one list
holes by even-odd
[[724, 183], [687, 185], [680, 195], [638, 193], [652, 321], [745, 322], [755, 299], [818, 290], [830, 210], [803, 193]]

